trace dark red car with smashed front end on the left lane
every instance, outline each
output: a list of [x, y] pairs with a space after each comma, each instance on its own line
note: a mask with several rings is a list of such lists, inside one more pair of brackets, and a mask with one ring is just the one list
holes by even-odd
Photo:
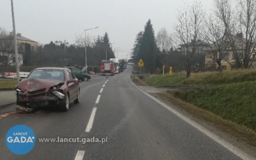
[[59, 107], [68, 111], [70, 103], [80, 102], [80, 84], [71, 70], [40, 67], [29, 73], [15, 87], [17, 110], [29, 112], [34, 107]]

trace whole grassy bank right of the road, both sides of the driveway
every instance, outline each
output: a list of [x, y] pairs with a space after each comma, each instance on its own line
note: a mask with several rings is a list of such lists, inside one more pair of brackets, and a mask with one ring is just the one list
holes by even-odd
[[[208, 83], [202, 83], [205, 77], [216, 77], [220, 73], [198, 73], [193, 74], [193, 84], [221, 84], [218, 87], [199, 90], [185, 91], [167, 91], [158, 94], [159, 98], [174, 104], [178, 110], [186, 110], [192, 115], [217, 130], [228, 133], [228, 137], [235, 137], [237, 140], [245, 141], [247, 144], [256, 146], [256, 81], [254, 82], [254, 71], [232, 71], [227, 73], [230, 79], [236, 83], [225, 84], [228, 81], [220, 83], [220, 79], [209, 80]], [[221, 74], [223, 74], [221, 73]], [[212, 75], [211, 75], [212, 74]], [[237, 74], [237, 75], [236, 75]], [[170, 81], [163, 83], [162, 77]], [[201, 77], [202, 79], [200, 79]], [[222, 77], [228, 77], [222, 75]], [[239, 79], [242, 77], [242, 79]], [[154, 82], [149, 82], [149, 79]], [[174, 74], [173, 76], [148, 76], [144, 79], [137, 78], [137, 83], [151, 85], [179, 85], [184, 82], [185, 73]], [[139, 82], [142, 81], [142, 82]], [[184, 82], [180, 82], [184, 81]], [[191, 81], [191, 80], [190, 80]], [[217, 83], [218, 82], [218, 83]]]

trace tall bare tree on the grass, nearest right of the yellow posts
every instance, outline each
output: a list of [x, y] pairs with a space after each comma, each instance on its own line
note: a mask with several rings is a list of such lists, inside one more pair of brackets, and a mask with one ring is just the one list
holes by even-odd
[[183, 53], [186, 56], [186, 70], [187, 77], [191, 75], [191, 66], [194, 54], [197, 52], [198, 46], [202, 45], [204, 40], [204, 29], [205, 29], [205, 11], [202, 10], [202, 4], [196, 2], [185, 8], [185, 10], [179, 14], [178, 25], [175, 28], [175, 35], [177, 41], [181, 44]]

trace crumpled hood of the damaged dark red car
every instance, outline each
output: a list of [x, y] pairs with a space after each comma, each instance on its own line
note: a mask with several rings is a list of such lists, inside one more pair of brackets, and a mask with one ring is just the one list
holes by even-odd
[[46, 89], [45, 91], [48, 91], [51, 87], [60, 83], [64, 82], [54, 79], [23, 79], [17, 87], [25, 92], [40, 89]]

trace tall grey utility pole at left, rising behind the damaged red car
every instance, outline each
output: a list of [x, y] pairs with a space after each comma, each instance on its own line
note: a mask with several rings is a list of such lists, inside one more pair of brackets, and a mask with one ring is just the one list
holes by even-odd
[[17, 83], [19, 84], [19, 82], [20, 82], [20, 65], [19, 65], [19, 57], [18, 57], [19, 55], [18, 55], [18, 47], [17, 47], [15, 20], [14, 20], [13, 0], [11, 0], [11, 14], [13, 16], [14, 50], [15, 50], [15, 61], [16, 61]]

